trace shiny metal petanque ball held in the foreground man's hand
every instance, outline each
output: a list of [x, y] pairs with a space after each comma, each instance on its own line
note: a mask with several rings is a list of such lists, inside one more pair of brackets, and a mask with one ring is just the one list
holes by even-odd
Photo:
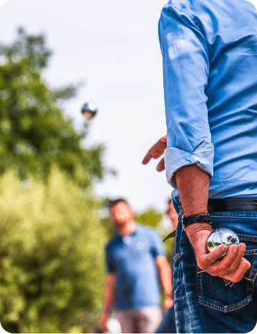
[[[208, 253], [212, 252], [217, 246], [222, 244], [228, 247], [234, 244], [238, 245], [239, 239], [237, 234], [232, 230], [229, 230], [229, 228], [217, 228], [217, 230], [213, 230], [206, 241]], [[219, 260], [222, 260], [226, 253], [222, 255], [222, 257], [219, 257]]]

